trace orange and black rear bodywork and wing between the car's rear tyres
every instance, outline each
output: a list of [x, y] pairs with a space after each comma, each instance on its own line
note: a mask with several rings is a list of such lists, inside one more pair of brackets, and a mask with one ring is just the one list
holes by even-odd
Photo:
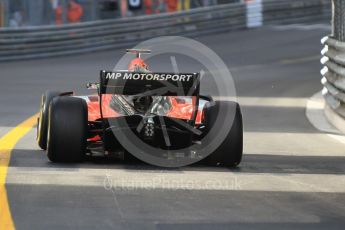
[[[188, 147], [196, 139], [195, 132], [189, 129], [202, 124], [199, 92], [197, 73], [101, 71], [98, 95], [88, 97], [88, 145], [95, 147], [98, 143], [108, 153], [118, 151], [121, 145], [114, 129], [129, 128], [154, 147]], [[137, 102], [129, 103], [128, 98]], [[168, 144], [164, 141], [162, 119]], [[147, 125], [149, 135], [144, 131]], [[143, 128], [138, 132], [139, 126]]]

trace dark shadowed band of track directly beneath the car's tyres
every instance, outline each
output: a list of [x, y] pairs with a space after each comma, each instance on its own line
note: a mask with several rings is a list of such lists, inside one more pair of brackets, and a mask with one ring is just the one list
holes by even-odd
[[14, 149], [10, 161], [11, 167], [38, 167], [77, 169], [122, 169], [150, 171], [210, 171], [210, 172], [241, 172], [241, 173], [300, 173], [300, 174], [345, 174], [345, 157], [343, 156], [291, 156], [244, 154], [239, 167], [209, 167], [196, 163], [180, 168], [162, 168], [136, 161], [123, 161], [108, 157], [87, 157], [77, 164], [52, 163], [42, 150]]

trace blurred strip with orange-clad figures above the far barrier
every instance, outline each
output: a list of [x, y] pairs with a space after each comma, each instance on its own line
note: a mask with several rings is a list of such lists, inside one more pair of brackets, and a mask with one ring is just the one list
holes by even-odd
[[176, 12], [240, 0], [0, 0], [0, 25], [22, 27]]

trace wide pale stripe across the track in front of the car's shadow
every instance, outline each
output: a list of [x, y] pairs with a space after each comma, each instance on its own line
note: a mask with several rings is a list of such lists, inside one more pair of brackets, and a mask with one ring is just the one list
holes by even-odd
[[[223, 171], [66, 169], [11, 167], [8, 185], [91, 186], [105, 189], [238, 190], [345, 193], [336, 174], [241, 173]], [[209, 170], [209, 171], [208, 171]], [[52, 178], [54, 178], [52, 180]]]

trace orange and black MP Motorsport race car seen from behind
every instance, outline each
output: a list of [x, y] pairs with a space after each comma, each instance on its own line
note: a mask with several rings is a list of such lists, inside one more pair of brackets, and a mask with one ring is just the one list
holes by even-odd
[[[189, 149], [205, 140], [209, 142], [205, 146], [212, 146], [213, 137], [226, 129], [214, 151], [200, 160], [209, 165], [237, 166], [243, 149], [239, 105], [200, 95], [197, 73], [150, 72], [140, 57], [149, 50], [127, 52], [136, 54], [128, 70], [101, 71], [99, 82], [87, 84], [97, 94], [47, 91], [42, 95], [37, 142], [49, 160], [80, 162], [99, 154], [132, 158], [136, 153], [128, 146], [137, 145], [135, 138], [162, 152]], [[214, 127], [217, 121], [218, 127]], [[125, 134], [116, 135], [123, 130], [135, 135], [127, 138], [129, 145], [119, 139]], [[193, 157], [198, 154], [191, 152]]]

